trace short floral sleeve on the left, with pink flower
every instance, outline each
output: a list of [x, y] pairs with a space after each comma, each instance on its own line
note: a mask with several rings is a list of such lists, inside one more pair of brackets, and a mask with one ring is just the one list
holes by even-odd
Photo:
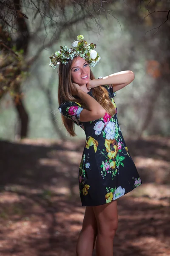
[[74, 121], [78, 126], [81, 124], [79, 121], [80, 113], [83, 108], [77, 102], [63, 102], [58, 107], [59, 112], [68, 119]]

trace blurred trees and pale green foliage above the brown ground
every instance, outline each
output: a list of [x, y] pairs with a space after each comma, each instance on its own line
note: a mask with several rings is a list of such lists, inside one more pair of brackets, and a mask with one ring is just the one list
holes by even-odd
[[[135, 73], [133, 83], [116, 93], [124, 134], [168, 136], [168, 2], [0, 1], [0, 137], [65, 139], [57, 110], [57, 70], [48, 63], [52, 52], [71, 46], [79, 34], [95, 42], [102, 56], [93, 69], [96, 77]], [[85, 136], [79, 128], [77, 134]]]

